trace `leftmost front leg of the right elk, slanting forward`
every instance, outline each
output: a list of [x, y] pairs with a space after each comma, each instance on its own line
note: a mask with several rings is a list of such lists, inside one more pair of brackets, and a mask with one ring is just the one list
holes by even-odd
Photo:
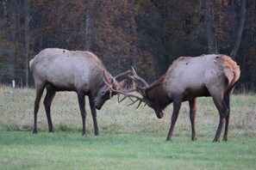
[[173, 101], [171, 126], [170, 126], [170, 130], [168, 132], [166, 141], [172, 141], [173, 130], [174, 130], [174, 126], [176, 124], [177, 118], [178, 118], [178, 112], [180, 110], [181, 102], [182, 102], [181, 100]]

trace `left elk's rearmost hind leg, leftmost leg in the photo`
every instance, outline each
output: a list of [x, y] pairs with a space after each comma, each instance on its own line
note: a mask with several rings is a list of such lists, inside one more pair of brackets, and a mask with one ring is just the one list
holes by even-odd
[[40, 106], [40, 101], [41, 101], [41, 96], [44, 92], [45, 86], [41, 85], [35, 86], [36, 89], [36, 94], [35, 94], [35, 100], [34, 100], [34, 128], [33, 128], [33, 133], [37, 133], [37, 113], [39, 110], [39, 106]]

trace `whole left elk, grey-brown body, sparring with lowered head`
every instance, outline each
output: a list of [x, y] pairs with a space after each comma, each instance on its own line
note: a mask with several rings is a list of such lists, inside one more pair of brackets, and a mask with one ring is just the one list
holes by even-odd
[[41, 96], [45, 88], [47, 94], [43, 101], [47, 113], [48, 130], [53, 131], [51, 118], [51, 105], [54, 95], [58, 91], [74, 91], [78, 94], [78, 104], [81, 112], [83, 132], [85, 134], [85, 95], [89, 97], [91, 115], [95, 135], [98, 135], [97, 111], [104, 102], [116, 93], [111, 93], [109, 87], [103, 82], [103, 74], [108, 75], [111, 88], [118, 90], [122, 82], [117, 78], [128, 73], [122, 73], [113, 77], [105, 69], [103, 63], [91, 52], [68, 51], [59, 48], [47, 48], [42, 50], [29, 62], [30, 70], [34, 76], [36, 96], [34, 100], [34, 129], [37, 133], [37, 113]]

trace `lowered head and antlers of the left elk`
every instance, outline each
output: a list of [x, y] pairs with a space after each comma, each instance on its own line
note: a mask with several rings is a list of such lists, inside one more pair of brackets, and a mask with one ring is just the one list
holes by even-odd
[[[125, 84], [125, 80], [122, 82], [117, 82], [117, 78], [122, 78], [130, 73], [130, 71], [124, 72], [118, 76], [112, 77], [108, 75], [105, 71], [103, 71], [103, 81], [105, 82], [103, 87], [99, 89], [97, 92], [97, 97], [95, 100], [95, 106], [98, 110], [100, 110], [105, 103], [106, 100], [109, 100], [113, 95], [117, 93], [115, 90], [119, 90]], [[114, 91], [113, 91], [113, 90]]]

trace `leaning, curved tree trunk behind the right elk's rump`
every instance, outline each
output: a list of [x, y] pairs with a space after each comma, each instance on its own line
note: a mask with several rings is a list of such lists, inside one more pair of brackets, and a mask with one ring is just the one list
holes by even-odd
[[240, 23], [239, 23], [239, 27], [237, 30], [237, 36], [234, 42], [234, 47], [232, 52], [230, 53], [231, 58], [235, 59], [237, 52], [239, 51], [240, 48], [240, 40], [241, 40], [241, 36], [243, 33], [243, 29], [245, 26], [245, 22], [246, 22], [246, 17], [247, 17], [247, 0], [241, 0], [241, 6], [240, 6]]

